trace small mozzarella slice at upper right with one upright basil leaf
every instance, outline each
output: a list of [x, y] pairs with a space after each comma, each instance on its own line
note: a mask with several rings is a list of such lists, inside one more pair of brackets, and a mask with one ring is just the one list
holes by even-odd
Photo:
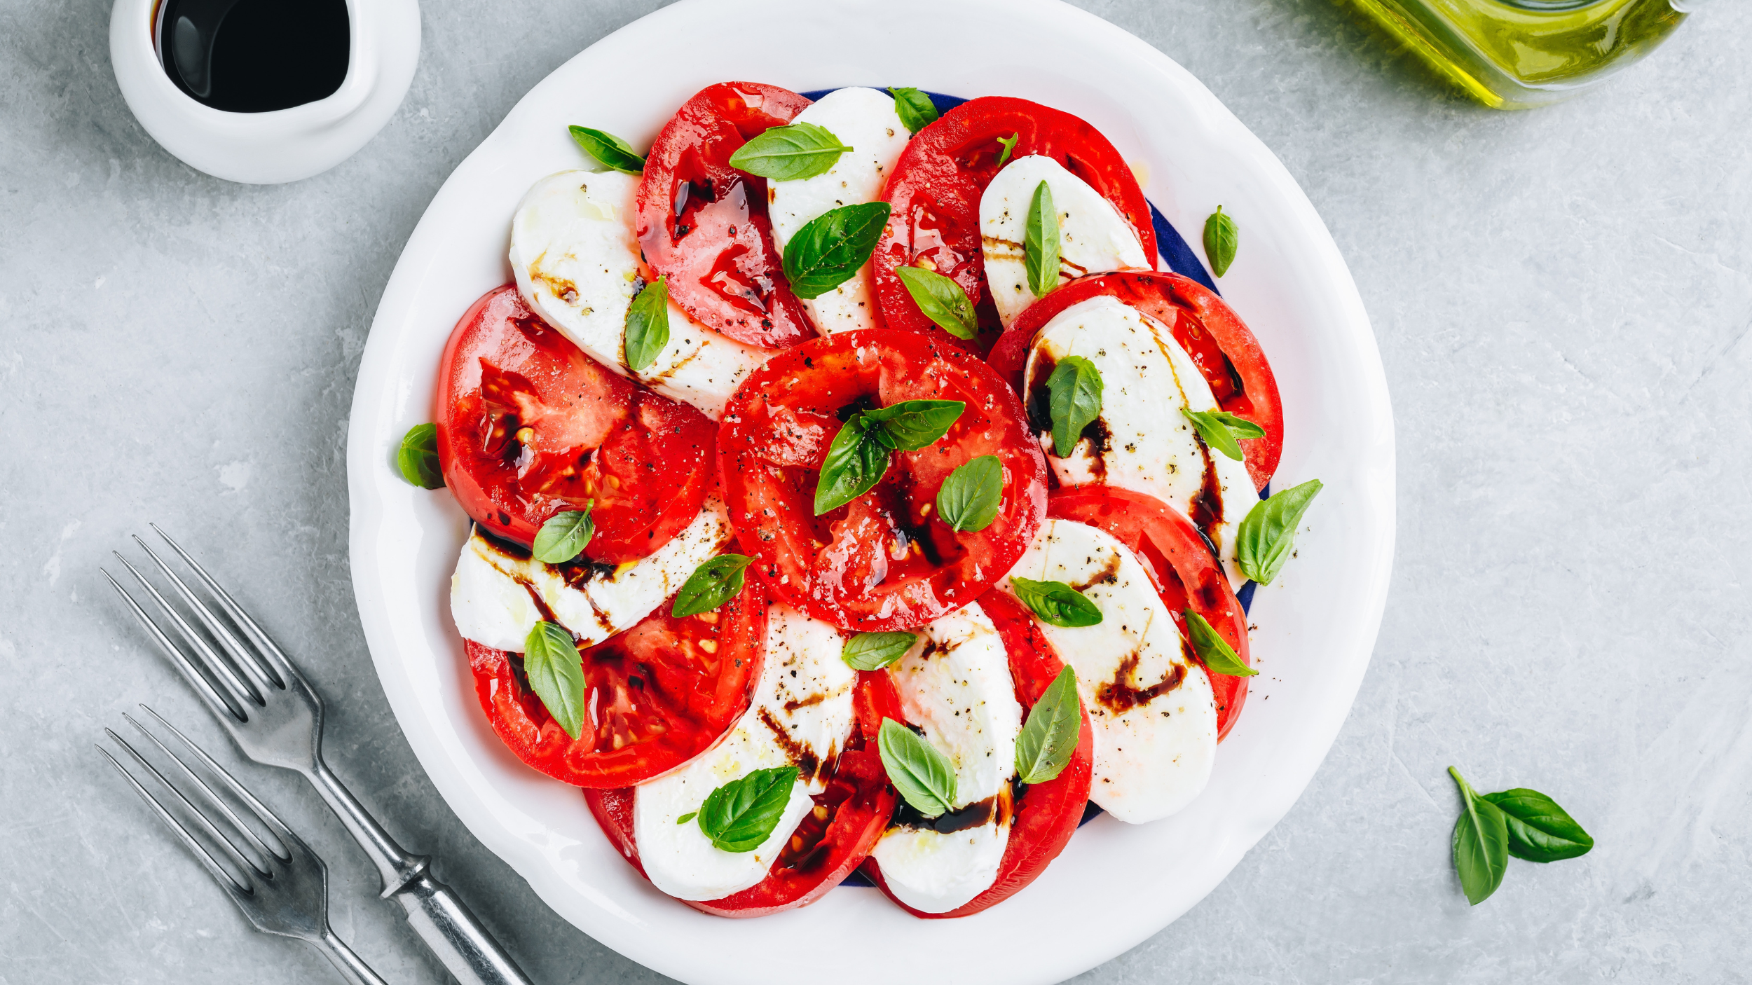
[[997, 172], [979, 198], [979, 237], [985, 244], [986, 284], [997, 317], [1009, 322], [1034, 303], [1023, 242], [1034, 189], [1046, 182], [1058, 210], [1058, 277], [1070, 280], [1084, 273], [1155, 265], [1144, 256], [1137, 230], [1099, 191], [1058, 161], [1028, 154]]

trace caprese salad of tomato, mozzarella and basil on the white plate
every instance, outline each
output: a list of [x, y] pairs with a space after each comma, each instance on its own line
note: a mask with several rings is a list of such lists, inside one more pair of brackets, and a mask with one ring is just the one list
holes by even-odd
[[450, 613], [505, 745], [724, 917], [853, 873], [964, 917], [1090, 804], [1191, 803], [1254, 673], [1237, 589], [1319, 482], [1263, 496], [1270, 363], [1113, 144], [755, 82], [645, 154], [571, 133], [398, 459], [473, 519]]

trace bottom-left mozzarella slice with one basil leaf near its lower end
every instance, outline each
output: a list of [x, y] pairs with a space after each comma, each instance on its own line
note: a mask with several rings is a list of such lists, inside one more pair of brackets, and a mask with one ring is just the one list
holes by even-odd
[[[722, 899], [766, 878], [797, 824], [827, 789], [822, 768], [851, 736], [857, 671], [839, 659], [839, 631], [801, 612], [767, 610], [766, 655], [753, 701], [724, 741], [632, 794], [632, 838], [652, 885], [678, 899]], [[755, 769], [797, 766], [773, 834], [753, 852], [717, 848], [696, 820], [711, 790]]]

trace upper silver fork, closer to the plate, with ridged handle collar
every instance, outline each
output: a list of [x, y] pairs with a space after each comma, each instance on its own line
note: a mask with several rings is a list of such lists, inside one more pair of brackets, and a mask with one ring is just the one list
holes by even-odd
[[[151, 528], [187, 564], [212, 601], [230, 619], [228, 626], [144, 540], [133, 538], [170, 582], [173, 594], [194, 613], [194, 619], [224, 654], [221, 655], [207, 636], [189, 626], [187, 619], [121, 554], [116, 554], [116, 559], [128, 568], [152, 603], [163, 610], [165, 619], [187, 643], [187, 648], [173, 643], [109, 571], [103, 571], [103, 577], [121, 594], [147, 634], [165, 650], [170, 663], [194, 687], [219, 724], [231, 733], [238, 748], [256, 762], [296, 769], [305, 780], [310, 780], [322, 801], [377, 864], [378, 875], [384, 876], [384, 899], [394, 899], [408, 911], [408, 924], [457, 981], [464, 985], [529, 985], [529, 978], [480, 925], [480, 920], [470, 913], [456, 892], [433, 878], [431, 857], [413, 855], [401, 848], [322, 762], [322, 699], [298, 673], [286, 652], [194, 557], [189, 557], [187, 550], [182, 550], [177, 542], [170, 540], [170, 535], [158, 529], [158, 524], [151, 524]], [[247, 641], [231, 631], [233, 626]]]

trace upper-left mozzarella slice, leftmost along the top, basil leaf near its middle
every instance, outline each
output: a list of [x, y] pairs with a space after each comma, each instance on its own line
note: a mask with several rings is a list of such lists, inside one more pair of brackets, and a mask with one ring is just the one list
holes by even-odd
[[512, 217], [517, 291], [597, 363], [717, 421], [738, 384], [771, 352], [725, 338], [671, 303], [669, 344], [643, 370], [627, 368], [627, 307], [641, 287], [632, 237], [638, 188], [638, 175], [622, 172], [538, 181]]

